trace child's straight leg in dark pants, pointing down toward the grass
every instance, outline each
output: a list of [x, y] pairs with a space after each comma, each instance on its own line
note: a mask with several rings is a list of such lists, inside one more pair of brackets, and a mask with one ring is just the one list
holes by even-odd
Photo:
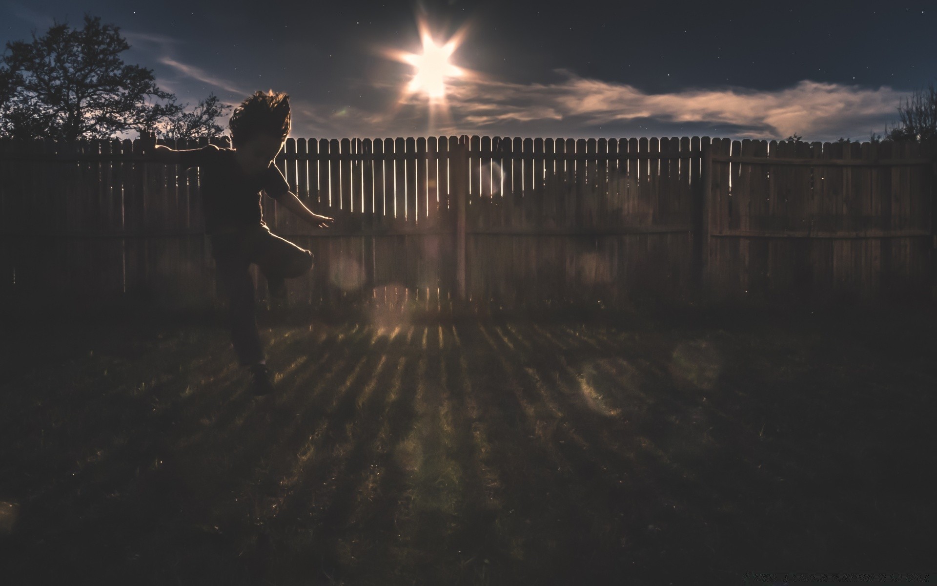
[[216, 258], [217, 276], [231, 305], [231, 341], [242, 366], [257, 364], [264, 359], [257, 329], [254, 280], [250, 278], [249, 267], [250, 264], [243, 257]]

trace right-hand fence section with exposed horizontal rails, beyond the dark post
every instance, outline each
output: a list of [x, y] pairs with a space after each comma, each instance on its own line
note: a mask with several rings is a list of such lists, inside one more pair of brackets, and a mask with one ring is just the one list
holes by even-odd
[[932, 163], [919, 144], [713, 141], [711, 152], [709, 276], [717, 296], [926, 294]]

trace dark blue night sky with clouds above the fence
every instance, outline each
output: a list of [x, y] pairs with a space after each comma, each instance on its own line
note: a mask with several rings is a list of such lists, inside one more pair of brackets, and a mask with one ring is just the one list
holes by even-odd
[[[937, 5], [893, 2], [178, 2], [0, 4], [0, 39], [84, 13], [121, 27], [127, 63], [194, 104], [290, 94], [293, 136], [710, 136], [867, 139], [937, 77]], [[445, 104], [405, 88], [464, 30]]]

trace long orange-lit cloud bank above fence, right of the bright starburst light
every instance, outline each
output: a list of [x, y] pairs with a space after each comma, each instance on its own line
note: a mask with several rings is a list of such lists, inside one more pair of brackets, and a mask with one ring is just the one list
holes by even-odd
[[[588, 133], [587, 128], [730, 129], [734, 136], [784, 138], [793, 133], [829, 139], [868, 134], [882, 128], [904, 93], [887, 86], [804, 80], [778, 90], [740, 87], [688, 88], [651, 94], [627, 83], [604, 82], [560, 71], [558, 83], [505, 83], [483, 79], [456, 81], [447, 96], [450, 130], [496, 131], [551, 128]], [[419, 109], [423, 98], [410, 96]], [[386, 121], [390, 123], [390, 120]], [[609, 129], [611, 129], [609, 128]]]

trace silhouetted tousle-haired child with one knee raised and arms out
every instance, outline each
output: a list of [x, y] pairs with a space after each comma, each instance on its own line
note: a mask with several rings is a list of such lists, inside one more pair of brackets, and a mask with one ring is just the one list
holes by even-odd
[[199, 167], [201, 206], [217, 276], [231, 303], [231, 338], [242, 366], [253, 375], [253, 391], [273, 390], [257, 329], [254, 281], [248, 272], [256, 263], [267, 278], [273, 299], [286, 298], [286, 278], [312, 267], [312, 252], [273, 233], [263, 221], [260, 191], [313, 226], [328, 227], [333, 218], [309, 211], [290, 192], [273, 159], [290, 134], [290, 97], [256, 92], [231, 114], [231, 147], [215, 145], [177, 151], [156, 145], [156, 135], [142, 137], [143, 154], [158, 161]]

